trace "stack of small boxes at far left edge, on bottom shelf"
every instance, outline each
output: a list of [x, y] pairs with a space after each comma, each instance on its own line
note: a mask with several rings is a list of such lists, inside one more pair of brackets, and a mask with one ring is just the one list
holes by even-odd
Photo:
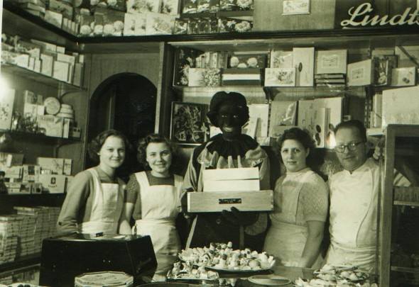
[[0, 264], [16, 259], [21, 216], [0, 216]]

